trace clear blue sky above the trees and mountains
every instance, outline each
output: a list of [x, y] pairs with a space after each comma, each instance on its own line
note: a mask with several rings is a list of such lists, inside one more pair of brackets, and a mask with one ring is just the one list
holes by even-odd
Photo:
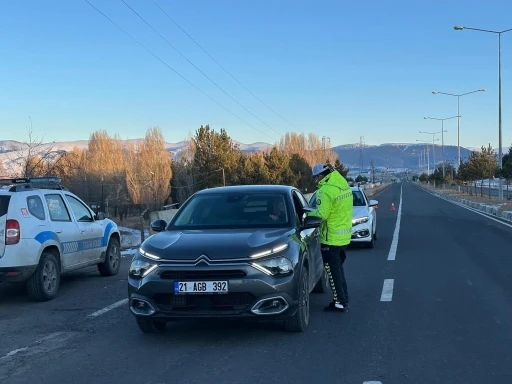
[[[162, 60], [264, 134], [198, 92], [84, 0], [0, 1], [0, 139], [87, 139], [106, 129], [142, 137], [158, 125], [177, 142], [201, 124], [244, 143], [277, 134], [209, 82], [120, 0], [90, 0]], [[512, 28], [512, 2], [475, 0], [157, 0], [239, 81], [223, 72], [150, 0], [126, 0], [203, 72], [278, 132], [332, 145], [427, 140], [423, 116], [457, 114], [461, 144], [498, 144], [498, 36], [454, 25]], [[512, 31], [502, 37], [503, 144], [512, 143]], [[456, 144], [456, 119], [445, 122]]]

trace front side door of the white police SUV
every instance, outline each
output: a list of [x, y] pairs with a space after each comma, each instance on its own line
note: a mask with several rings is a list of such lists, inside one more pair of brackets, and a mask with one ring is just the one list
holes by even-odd
[[83, 261], [100, 259], [103, 250], [103, 223], [95, 221], [91, 210], [78, 198], [68, 193], [64, 193], [64, 196], [80, 229]]

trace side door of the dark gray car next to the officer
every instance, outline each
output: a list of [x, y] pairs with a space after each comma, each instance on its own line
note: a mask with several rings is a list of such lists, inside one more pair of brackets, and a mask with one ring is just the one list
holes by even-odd
[[[293, 191], [294, 205], [297, 215], [302, 223], [306, 217], [306, 212], [311, 210], [306, 198], [300, 191]], [[310, 273], [310, 286], [313, 287], [322, 276], [324, 271], [324, 263], [322, 261], [322, 253], [320, 249], [320, 231], [318, 228], [305, 229], [302, 231], [303, 241], [309, 250], [310, 265], [314, 266]]]

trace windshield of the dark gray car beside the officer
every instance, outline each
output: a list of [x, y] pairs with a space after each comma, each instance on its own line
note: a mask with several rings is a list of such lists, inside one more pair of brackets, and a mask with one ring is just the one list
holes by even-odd
[[289, 212], [279, 193], [208, 193], [192, 197], [168, 229], [286, 227]]

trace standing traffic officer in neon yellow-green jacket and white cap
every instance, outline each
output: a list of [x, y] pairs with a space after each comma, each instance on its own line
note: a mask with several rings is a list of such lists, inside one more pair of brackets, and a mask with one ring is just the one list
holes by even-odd
[[326, 164], [313, 166], [312, 173], [318, 190], [315, 211], [310, 215], [323, 219], [320, 225], [322, 258], [333, 293], [333, 301], [325, 310], [345, 312], [348, 292], [343, 263], [352, 237], [352, 190], [347, 180]]

